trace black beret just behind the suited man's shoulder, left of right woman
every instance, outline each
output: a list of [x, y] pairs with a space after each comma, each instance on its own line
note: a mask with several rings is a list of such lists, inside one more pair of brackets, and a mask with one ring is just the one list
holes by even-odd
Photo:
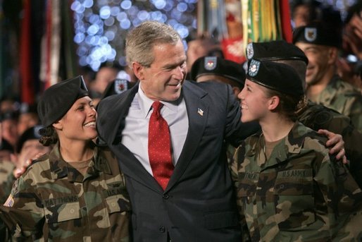
[[239, 85], [245, 83], [245, 71], [242, 64], [229, 61], [217, 56], [203, 56], [192, 64], [190, 77], [196, 80], [201, 75], [220, 75], [224, 78], [234, 80]]

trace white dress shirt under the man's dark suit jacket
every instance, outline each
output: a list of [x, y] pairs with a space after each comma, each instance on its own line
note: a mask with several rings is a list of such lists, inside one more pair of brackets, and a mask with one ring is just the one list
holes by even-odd
[[[122, 144], [130, 150], [133, 155], [141, 162], [142, 166], [149, 174], [152, 174], [149, 164], [149, 118], [152, 114], [151, 105], [154, 100], [144, 95], [139, 83], [128, 114], [125, 118], [125, 128], [122, 132]], [[176, 166], [184, 147], [187, 131], [189, 129], [189, 118], [187, 116], [185, 99], [175, 102], [161, 102], [161, 115], [168, 123], [170, 128], [170, 140], [172, 147], [173, 165]]]

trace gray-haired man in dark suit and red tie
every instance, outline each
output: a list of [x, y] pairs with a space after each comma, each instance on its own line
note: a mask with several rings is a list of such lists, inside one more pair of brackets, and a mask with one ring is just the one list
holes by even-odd
[[[238, 145], [258, 126], [240, 122], [229, 85], [185, 80], [185, 49], [170, 26], [139, 25], [126, 56], [139, 84], [99, 103], [97, 129], [126, 176], [135, 241], [241, 241], [223, 140]], [[154, 115], [168, 131], [154, 133]], [[160, 133], [168, 138], [150, 141]], [[160, 140], [168, 145], [154, 147]]]

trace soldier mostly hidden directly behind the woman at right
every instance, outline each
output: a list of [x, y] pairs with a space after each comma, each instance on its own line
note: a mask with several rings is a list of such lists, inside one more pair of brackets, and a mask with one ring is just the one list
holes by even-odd
[[[253, 42], [246, 47], [246, 56], [249, 59], [275, 61], [292, 66], [299, 74], [304, 88], [306, 87], [308, 59], [304, 52], [294, 44], [289, 44], [284, 40]], [[297, 116], [298, 121], [314, 131], [323, 129], [342, 135], [351, 174], [362, 188], [362, 133], [352, 126], [351, 119], [333, 109], [311, 102], [311, 100], [308, 100], [306, 105], [298, 110]], [[327, 145], [331, 145], [329, 141]], [[335, 152], [335, 149], [332, 148], [331, 152]], [[340, 158], [339, 155], [337, 157]]]

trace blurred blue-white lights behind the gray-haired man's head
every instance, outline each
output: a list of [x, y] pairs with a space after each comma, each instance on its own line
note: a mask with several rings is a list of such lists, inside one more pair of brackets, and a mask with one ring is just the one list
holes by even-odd
[[125, 36], [145, 20], [168, 23], [184, 39], [196, 30], [197, 0], [75, 0], [77, 56], [81, 66], [98, 71], [105, 61], [125, 66]]

